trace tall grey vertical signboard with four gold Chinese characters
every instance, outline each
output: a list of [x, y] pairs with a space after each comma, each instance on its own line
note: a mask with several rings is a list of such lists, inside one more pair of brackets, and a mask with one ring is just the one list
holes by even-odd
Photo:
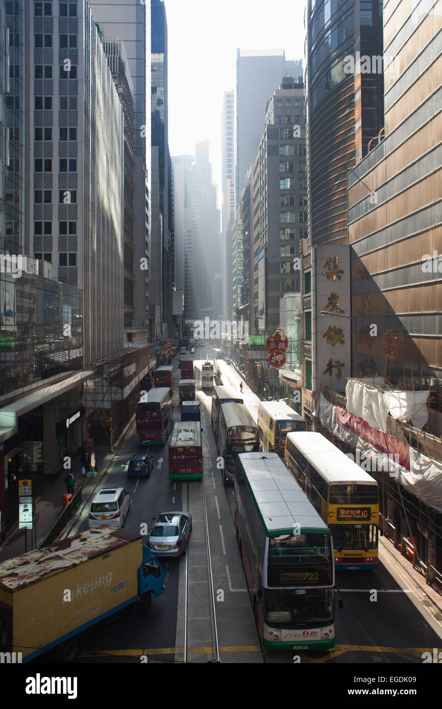
[[[326, 314], [321, 315], [321, 311]], [[316, 247], [316, 372], [318, 382], [345, 391], [350, 376], [350, 247]]]

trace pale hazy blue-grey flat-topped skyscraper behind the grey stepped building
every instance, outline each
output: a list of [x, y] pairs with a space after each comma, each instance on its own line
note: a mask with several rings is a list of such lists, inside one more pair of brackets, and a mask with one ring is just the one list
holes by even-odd
[[281, 77], [302, 77], [302, 61], [286, 60], [285, 52], [236, 50], [235, 207], [241, 199], [245, 174], [263, 133], [265, 106]]

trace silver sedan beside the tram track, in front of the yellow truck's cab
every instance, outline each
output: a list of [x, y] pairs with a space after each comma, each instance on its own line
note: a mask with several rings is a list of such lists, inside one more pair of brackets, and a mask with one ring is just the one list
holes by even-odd
[[180, 557], [185, 554], [192, 531], [192, 515], [188, 512], [162, 512], [153, 517], [148, 547], [155, 557]]

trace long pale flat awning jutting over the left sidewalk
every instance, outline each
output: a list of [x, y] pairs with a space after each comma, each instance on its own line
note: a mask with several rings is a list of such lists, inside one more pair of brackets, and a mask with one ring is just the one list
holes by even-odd
[[0, 408], [0, 443], [18, 432], [18, 418], [20, 416], [28, 413], [28, 411], [33, 411], [34, 408], [42, 406], [44, 403], [48, 403], [48, 401], [52, 401], [66, 391], [74, 389], [74, 386], [82, 384], [86, 379], [90, 379], [93, 374], [93, 371], [84, 372], [80, 370], [71, 376], [67, 376], [66, 379], [47, 386], [39, 386], [26, 394], [26, 396], [11, 401], [11, 403], [6, 403], [5, 406]]

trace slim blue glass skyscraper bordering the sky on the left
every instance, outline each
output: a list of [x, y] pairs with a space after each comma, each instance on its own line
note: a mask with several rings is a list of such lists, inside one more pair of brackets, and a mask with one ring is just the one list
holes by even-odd
[[[162, 218], [153, 216], [153, 274], [158, 272], [158, 288], [151, 289], [155, 303], [161, 303], [162, 323], [172, 328], [172, 164], [168, 144], [167, 118], [167, 18], [164, 0], [150, 0], [151, 18], [151, 116], [152, 146], [158, 160], [158, 208]], [[156, 190], [157, 188], [155, 188]], [[160, 228], [161, 227], [161, 228]], [[166, 333], [165, 333], [166, 334]]]

